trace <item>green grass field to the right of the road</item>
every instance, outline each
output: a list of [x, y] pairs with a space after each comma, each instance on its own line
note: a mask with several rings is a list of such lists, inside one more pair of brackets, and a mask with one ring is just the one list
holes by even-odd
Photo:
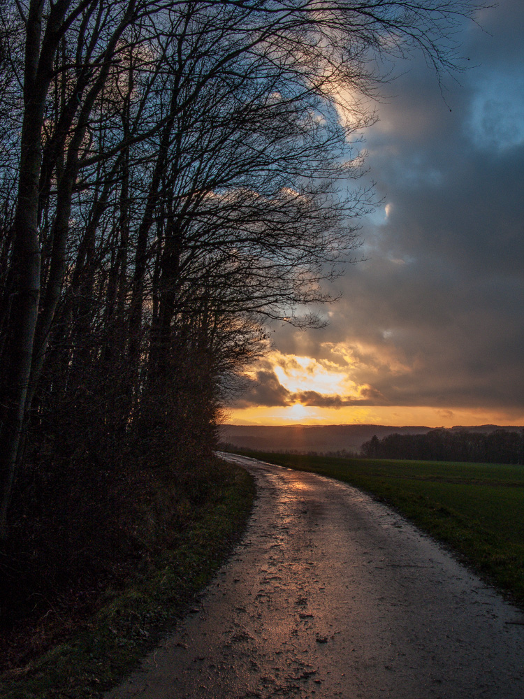
[[524, 606], [524, 466], [249, 453], [393, 505]]

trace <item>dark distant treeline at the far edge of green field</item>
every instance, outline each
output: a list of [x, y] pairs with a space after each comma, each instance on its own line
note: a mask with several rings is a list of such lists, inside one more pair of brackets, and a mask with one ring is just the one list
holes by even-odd
[[421, 435], [374, 435], [362, 445], [366, 459], [423, 459], [523, 463], [524, 431], [494, 430], [488, 433], [435, 429]]

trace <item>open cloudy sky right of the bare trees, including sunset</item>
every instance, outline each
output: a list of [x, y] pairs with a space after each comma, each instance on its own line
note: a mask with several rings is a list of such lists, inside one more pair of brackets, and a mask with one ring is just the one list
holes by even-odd
[[328, 326], [270, 326], [233, 424], [524, 424], [524, 2], [465, 24], [458, 81], [422, 57], [363, 132], [381, 206]]

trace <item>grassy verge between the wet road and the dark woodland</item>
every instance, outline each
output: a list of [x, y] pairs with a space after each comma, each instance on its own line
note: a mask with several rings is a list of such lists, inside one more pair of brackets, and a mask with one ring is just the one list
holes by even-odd
[[163, 546], [137, 561], [125, 584], [105, 589], [68, 637], [3, 672], [3, 699], [101, 697], [175, 626], [238, 540], [254, 484], [244, 470], [215, 461], [177, 492], [177, 525]]

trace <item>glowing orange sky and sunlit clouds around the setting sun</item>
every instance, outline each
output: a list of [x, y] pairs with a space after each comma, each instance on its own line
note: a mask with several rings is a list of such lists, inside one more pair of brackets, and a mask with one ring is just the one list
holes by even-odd
[[[272, 349], [246, 372], [248, 390], [227, 412], [228, 424], [382, 424], [453, 427], [524, 424], [521, 410], [390, 405], [377, 385], [384, 368], [400, 381], [412, 368], [371, 347], [323, 343], [321, 356]], [[363, 359], [365, 357], [365, 359]], [[377, 368], [379, 367], [379, 368]], [[377, 380], [375, 385], [371, 383]]]

